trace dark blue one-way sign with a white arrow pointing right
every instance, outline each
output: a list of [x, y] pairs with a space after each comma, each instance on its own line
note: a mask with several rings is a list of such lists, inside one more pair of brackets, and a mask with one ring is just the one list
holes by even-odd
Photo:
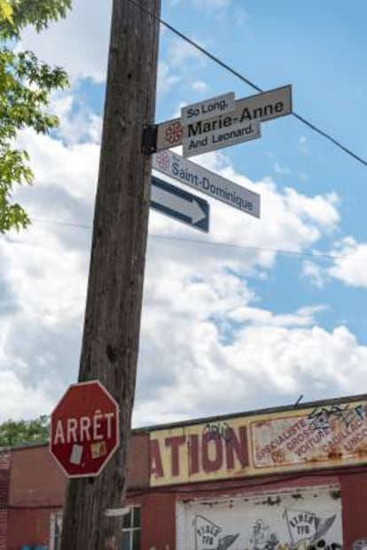
[[151, 207], [195, 229], [209, 231], [207, 200], [200, 199], [154, 176], [152, 176]]

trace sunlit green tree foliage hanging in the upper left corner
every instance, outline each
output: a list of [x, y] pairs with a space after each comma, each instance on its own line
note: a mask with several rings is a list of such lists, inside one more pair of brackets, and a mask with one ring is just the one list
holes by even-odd
[[0, 0], [0, 232], [30, 223], [27, 212], [12, 203], [13, 186], [34, 180], [27, 152], [16, 148], [18, 133], [31, 128], [44, 134], [57, 127], [57, 116], [48, 111], [50, 96], [67, 85], [62, 68], [14, 46], [22, 28], [31, 25], [40, 32], [70, 7], [71, 0]]

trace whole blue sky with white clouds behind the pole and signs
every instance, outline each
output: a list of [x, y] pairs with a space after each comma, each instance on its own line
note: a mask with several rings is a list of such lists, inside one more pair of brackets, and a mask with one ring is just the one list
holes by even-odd
[[[51, 413], [77, 379], [110, 14], [74, 0], [24, 35], [72, 85], [53, 98], [58, 132], [20, 136], [36, 183], [17, 193], [32, 228], [0, 236], [0, 420]], [[164, 20], [263, 90], [292, 84], [294, 112], [364, 159], [366, 16], [364, 0], [162, 0]], [[163, 27], [158, 80], [157, 122], [254, 94]], [[262, 216], [207, 199], [203, 233], [151, 212], [134, 425], [363, 393], [366, 166], [292, 115], [193, 160], [259, 193]]]

